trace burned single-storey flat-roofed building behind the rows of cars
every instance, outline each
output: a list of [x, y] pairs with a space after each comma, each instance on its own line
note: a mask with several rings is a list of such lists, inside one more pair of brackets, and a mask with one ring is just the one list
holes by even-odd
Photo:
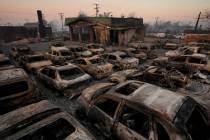
[[77, 17], [66, 18], [65, 24], [71, 41], [126, 45], [144, 39], [142, 18]]

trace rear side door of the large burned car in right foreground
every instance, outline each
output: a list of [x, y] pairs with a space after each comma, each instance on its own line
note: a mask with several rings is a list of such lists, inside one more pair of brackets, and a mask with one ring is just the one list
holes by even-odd
[[155, 140], [151, 116], [127, 104], [119, 110], [113, 133], [119, 140]]

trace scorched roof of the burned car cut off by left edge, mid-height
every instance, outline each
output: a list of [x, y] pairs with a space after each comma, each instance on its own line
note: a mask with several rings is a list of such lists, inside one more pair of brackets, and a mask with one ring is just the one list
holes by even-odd
[[28, 78], [26, 72], [21, 68], [14, 68], [0, 71], [0, 81]]

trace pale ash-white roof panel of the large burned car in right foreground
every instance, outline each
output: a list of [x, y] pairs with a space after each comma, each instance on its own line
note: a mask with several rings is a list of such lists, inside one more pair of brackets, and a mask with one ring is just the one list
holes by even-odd
[[173, 121], [179, 108], [187, 98], [189, 97], [148, 83], [143, 84], [128, 96], [131, 102], [144, 105], [150, 110], [165, 116], [170, 121]]

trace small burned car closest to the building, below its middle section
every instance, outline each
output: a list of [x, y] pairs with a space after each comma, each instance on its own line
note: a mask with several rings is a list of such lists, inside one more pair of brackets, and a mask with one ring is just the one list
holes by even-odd
[[93, 55], [101, 54], [104, 52], [104, 48], [100, 44], [90, 43], [87, 44], [86, 47], [93, 53]]

